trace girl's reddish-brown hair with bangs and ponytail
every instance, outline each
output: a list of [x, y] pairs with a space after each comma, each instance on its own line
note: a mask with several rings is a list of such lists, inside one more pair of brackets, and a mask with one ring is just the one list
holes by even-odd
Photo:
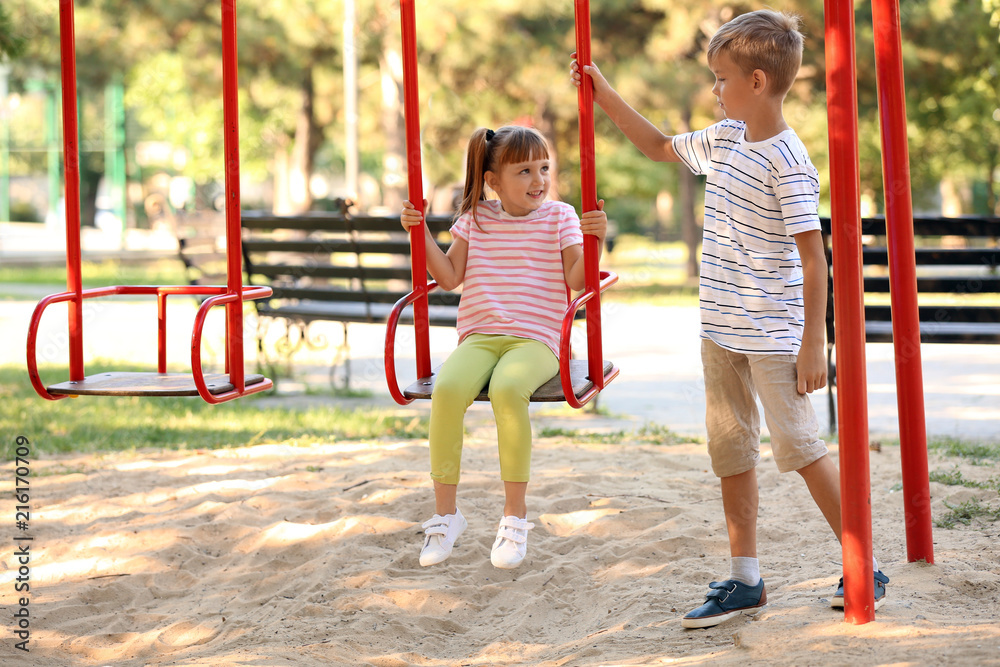
[[[487, 138], [489, 137], [489, 138]], [[486, 172], [499, 172], [504, 165], [531, 160], [547, 160], [549, 145], [538, 130], [520, 125], [505, 125], [499, 130], [481, 127], [472, 133], [465, 160], [465, 191], [458, 216], [472, 211], [472, 219], [479, 225], [476, 209], [486, 200]]]

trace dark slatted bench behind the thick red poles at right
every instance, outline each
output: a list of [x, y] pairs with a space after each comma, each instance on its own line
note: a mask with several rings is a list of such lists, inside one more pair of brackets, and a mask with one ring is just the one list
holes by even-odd
[[[830, 220], [822, 221], [830, 299], [827, 307], [828, 405], [836, 429], [833, 387], [836, 343]], [[865, 340], [892, 342], [889, 252], [883, 218], [861, 221]], [[921, 343], [1000, 344], [1000, 218], [916, 217], [917, 293]]]

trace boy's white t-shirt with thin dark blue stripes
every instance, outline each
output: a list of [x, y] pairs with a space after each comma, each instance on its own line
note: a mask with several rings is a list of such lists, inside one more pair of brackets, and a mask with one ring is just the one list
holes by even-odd
[[748, 143], [724, 120], [673, 139], [707, 174], [701, 335], [750, 354], [797, 354], [802, 343], [802, 260], [795, 234], [819, 229], [819, 176], [792, 130]]

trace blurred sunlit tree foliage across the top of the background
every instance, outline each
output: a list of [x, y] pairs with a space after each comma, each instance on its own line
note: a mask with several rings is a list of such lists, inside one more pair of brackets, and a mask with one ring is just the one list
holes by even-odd
[[[910, 168], [918, 208], [937, 204], [942, 180], [955, 182], [963, 192], [985, 183], [975, 205], [997, 207], [998, 2], [902, 3]], [[401, 122], [382, 97], [382, 87], [392, 84], [386, 75], [393, 58], [398, 59], [397, 7], [382, 0], [356, 4], [361, 159], [366, 171], [379, 177], [383, 155], [398, 141], [387, 128]], [[722, 23], [757, 6], [733, 0], [594, 0], [593, 57], [626, 100], [664, 131], [701, 128], [718, 113], [704, 60], [707, 42]], [[244, 174], [265, 180], [275, 172], [276, 157], [303, 152], [311, 158], [307, 167], [339, 174], [346, 121], [343, 3], [246, 0], [238, 9]], [[823, 3], [793, 0], [781, 9], [801, 15], [806, 35], [803, 68], [786, 100], [786, 118], [820, 171], [826, 208]], [[0, 53], [13, 53], [14, 43], [23, 47], [22, 57], [12, 62], [15, 89], [44, 73], [55, 80], [57, 10], [46, 0], [5, 3], [0, 10]], [[220, 179], [218, 5], [95, 0], [77, 3], [76, 15], [82, 97], [91, 99], [105, 82], [123, 78], [130, 144], [155, 140], [183, 147], [187, 175], [200, 182]], [[423, 163], [431, 190], [464, 178], [465, 144], [476, 127], [528, 121], [553, 141], [560, 197], [578, 203], [576, 90], [567, 74], [573, 50], [571, 3], [418, 2], [417, 22]], [[857, 10], [857, 39], [862, 189], [879, 202], [873, 29], [864, 3]], [[25, 121], [34, 123], [27, 130], [32, 136], [38, 134], [38, 118]], [[302, 131], [305, 120], [311, 133]], [[94, 140], [103, 131], [99, 118], [84, 128]], [[598, 194], [608, 200], [607, 210], [623, 231], [649, 233], [657, 196], [673, 193], [676, 201], [679, 167], [649, 164], [600, 112], [597, 131]], [[19, 128], [14, 136], [17, 142], [28, 135]], [[12, 168], [39, 169], [31, 159], [15, 155]], [[972, 197], [962, 196], [971, 210]]]

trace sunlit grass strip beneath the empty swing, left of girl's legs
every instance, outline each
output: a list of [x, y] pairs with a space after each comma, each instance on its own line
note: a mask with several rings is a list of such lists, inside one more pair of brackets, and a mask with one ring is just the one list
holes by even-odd
[[[87, 373], [134, 370], [90, 363]], [[60, 381], [65, 368], [40, 369], [43, 381]], [[147, 447], [215, 449], [262, 443], [305, 446], [338, 440], [426, 438], [426, 419], [376, 408], [262, 407], [259, 396], [220, 405], [199, 398], [93, 397], [46, 401], [20, 366], [0, 366], [0, 432], [24, 435], [33, 452], [122, 451]]]

